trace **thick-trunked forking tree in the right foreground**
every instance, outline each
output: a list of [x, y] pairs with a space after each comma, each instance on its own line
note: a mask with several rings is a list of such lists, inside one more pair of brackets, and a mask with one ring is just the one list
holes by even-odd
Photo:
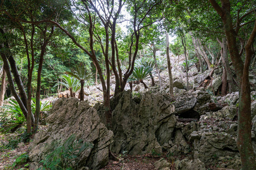
[[[247, 17], [255, 13], [255, 7], [246, 9], [248, 3], [242, 2], [241, 6], [237, 10], [236, 27], [233, 27], [232, 17], [232, 3], [229, 0], [221, 0], [219, 5], [215, 0], [210, 0], [214, 10], [217, 11], [218, 15], [224, 24], [224, 30], [226, 39], [228, 41], [228, 48], [230, 57], [232, 59], [234, 68], [236, 70], [238, 87], [239, 87], [239, 107], [238, 107], [238, 137], [237, 147], [240, 151], [242, 169], [255, 169], [255, 155], [253, 152], [253, 146], [251, 145], [251, 97], [250, 97], [250, 84], [249, 84], [249, 66], [251, 56], [254, 54], [253, 42], [256, 36], [256, 20], [255, 18], [245, 20]], [[250, 6], [250, 5], [249, 5]], [[245, 11], [242, 11], [246, 9]], [[242, 14], [242, 16], [240, 15]], [[245, 23], [243, 23], [245, 21]], [[248, 23], [254, 23], [253, 29], [246, 41], [245, 49], [245, 62], [242, 61], [241, 52], [238, 51], [237, 36], [240, 28]], [[243, 50], [243, 44], [242, 49]]]

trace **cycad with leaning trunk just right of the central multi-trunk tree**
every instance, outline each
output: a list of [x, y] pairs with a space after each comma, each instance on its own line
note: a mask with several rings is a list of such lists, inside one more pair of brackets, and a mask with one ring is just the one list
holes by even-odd
[[143, 82], [143, 80], [151, 78], [150, 74], [152, 73], [152, 71], [152, 67], [135, 67], [132, 74], [133, 76], [130, 80], [138, 81], [139, 83], [142, 83], [145, 88], [148, 88], [147, 85]]

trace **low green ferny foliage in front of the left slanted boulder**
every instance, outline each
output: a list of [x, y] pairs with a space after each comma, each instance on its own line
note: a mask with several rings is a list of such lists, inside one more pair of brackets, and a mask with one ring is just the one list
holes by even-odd
[[43, 169], [78, 169], [80, 154], [92, 147], [91, 143], [82, 143], [82, 139], [77, 141], [74, 134], [62, 144], [61, 141], [53, 141], [48, 145], [51, 152], [42, 160]]

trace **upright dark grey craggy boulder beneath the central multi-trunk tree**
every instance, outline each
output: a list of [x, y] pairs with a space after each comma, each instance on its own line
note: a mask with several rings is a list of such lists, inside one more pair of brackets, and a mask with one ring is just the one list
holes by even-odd
[[[104, 110], [98, 108], [102, 121]], [[122, 92], [112, 100], [112, 151], [144, 154], [154, 150], [162, 153], [162, 145], [168, 145], [175, 128], [176, 117], [170, 97], [144, 93], [132, 99], [131, 92]]]

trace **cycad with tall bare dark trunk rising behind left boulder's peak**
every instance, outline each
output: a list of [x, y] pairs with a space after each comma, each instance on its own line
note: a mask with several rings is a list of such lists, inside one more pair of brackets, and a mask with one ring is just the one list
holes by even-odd
[[80, 84], [81, 84], [80, 100], [83, 101], [84, 100], [84, 84], [85, 82], [89, 81], [92, 78], [92, 73], [86, 70], [85, 66], [79, 66], [79, 65], [76, 65], [76, 69], [73, 70], [73, 72], [67, 71], [66, 73], [80, 81]]

